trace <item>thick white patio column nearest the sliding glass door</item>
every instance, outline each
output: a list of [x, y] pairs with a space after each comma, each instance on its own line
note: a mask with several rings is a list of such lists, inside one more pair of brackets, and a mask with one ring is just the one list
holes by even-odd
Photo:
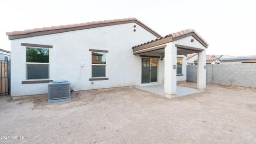
[[168, 43], [164, 48], [164, 94], [167, 98], [176, 97], [177, 48]]

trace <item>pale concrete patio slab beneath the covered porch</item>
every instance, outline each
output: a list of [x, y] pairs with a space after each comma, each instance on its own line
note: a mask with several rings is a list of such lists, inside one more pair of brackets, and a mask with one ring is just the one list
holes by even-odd
[[[136, 86], [136, 88], [164, 96], [164, 84], [140, 85], [140, 86]], [[199, 92], [201, 92], [201, 91], [199, 91], [198, 89], [195, 89], [195, 88], [189, 88], [189, 87], [177, 85], [176, 97], [191, 95], [191, 94], [195, 94], [195, 93], [199, 93]]]

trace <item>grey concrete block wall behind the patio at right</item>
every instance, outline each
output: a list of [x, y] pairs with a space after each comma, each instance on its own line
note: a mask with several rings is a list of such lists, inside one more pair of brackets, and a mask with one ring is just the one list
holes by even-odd
[[[187, 81], [197, 82], [197, 65], [187, 66]], [[256, 63], [208, 64], [207, 84], [256, 87]]]

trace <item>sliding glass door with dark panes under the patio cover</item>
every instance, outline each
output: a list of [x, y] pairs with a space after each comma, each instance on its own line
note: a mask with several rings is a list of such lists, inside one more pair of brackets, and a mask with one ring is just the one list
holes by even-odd
[[141, 83], [154, 83], [158, 81], [158, 59], [142, 58]]

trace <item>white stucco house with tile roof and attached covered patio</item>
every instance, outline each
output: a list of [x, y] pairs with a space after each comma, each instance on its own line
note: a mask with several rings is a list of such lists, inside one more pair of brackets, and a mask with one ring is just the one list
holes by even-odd
[[188, 29], [167, 36], [136, 18], [35, 28], [6, 33], [11, 40], [11, 96], [46, 94], [68, 80], [73, 90], [164, 83], [175, 97], [186, 81], [186, 54], [198, 53], [198, 89], [206, 87], [207, 42]]

